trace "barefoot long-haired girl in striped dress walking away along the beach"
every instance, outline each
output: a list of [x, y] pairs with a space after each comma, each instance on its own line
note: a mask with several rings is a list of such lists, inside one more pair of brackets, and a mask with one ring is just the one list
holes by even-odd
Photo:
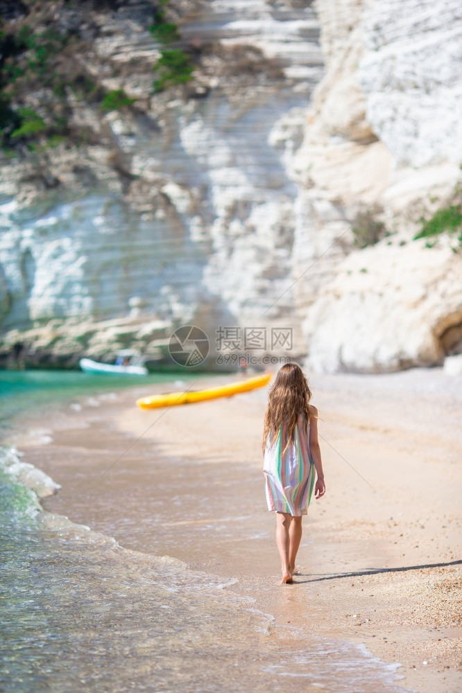
[[318, 410], [302, 369], [286, 363], [278, 371], [268, 398], [262, 449], [268, 510], [276, 513], [276, 544], [281, 557], [281, 584], [291, 584], [316, 470], [315, 498], [325, 494], [318, 443]]

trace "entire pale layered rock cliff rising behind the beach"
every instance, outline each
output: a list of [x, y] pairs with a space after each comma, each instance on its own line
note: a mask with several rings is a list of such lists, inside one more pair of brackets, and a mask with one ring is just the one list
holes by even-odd
[[[14, 4], [3, 360], [110, 358], [181, 324], [292, 327], [291, 356], [328, 371], [462, 351], [458, 2]], [[194, 71], [160, 87], [166, 25]], [[50, 28], [54, 81], [11, 78]]]

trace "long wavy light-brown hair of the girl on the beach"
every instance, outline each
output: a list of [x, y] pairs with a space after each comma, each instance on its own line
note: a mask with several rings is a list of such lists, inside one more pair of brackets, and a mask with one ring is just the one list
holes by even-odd
[[307, 378], [303, 374], [302, 369], [296, 363], [286, 363], [277, 372], [276, 379], [271, 387], [268, 406], [266, 407], [262, 450], [266, 447], [266, 441], [270, 432], [273, 432], [271, 445], [274, 444], [277, 438], [277, 432], [283, 422], [288, 422], [287, 437], [284, 450], [295, 438], [295, 430], [300, 414], [305, 416], [305, 421], [309, 421], [311, 416], [311, 407], [309, 401], [311, 399], [311, 391], [308, 387]]

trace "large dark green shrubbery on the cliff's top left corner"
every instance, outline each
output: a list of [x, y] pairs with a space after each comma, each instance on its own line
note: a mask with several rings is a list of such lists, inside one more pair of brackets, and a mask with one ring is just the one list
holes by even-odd
[[[55, 28], [52, 6], [36, 4], [18, 22], [0, 18], [0, 148], [8, 158], [87, 138], [88, 128], [72, 124], [74, 101], [104, 97], [76, 60], [85, 42]], [[32, 100], [40, 100], [40, 112]]]

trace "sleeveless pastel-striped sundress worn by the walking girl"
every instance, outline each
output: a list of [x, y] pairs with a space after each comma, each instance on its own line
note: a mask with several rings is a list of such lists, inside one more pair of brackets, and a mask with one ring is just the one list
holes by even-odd
[[309, 450], [309, 421], [298, 417], [293, 442], [286, 444], [286, 424], [280, 426], [273, 446], [270, 432], [264, 451], [263, 473], [266, 481], [268, 510], [306, 515], [314, 486], [314, 462]]

